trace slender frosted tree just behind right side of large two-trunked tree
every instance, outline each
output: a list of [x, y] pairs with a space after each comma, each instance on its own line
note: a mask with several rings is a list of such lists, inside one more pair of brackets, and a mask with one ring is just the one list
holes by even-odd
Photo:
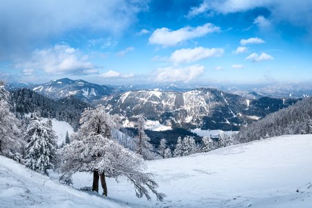
[[136, 151], [137, 154], [142, 155], [144, 159], [154, 159], [152, 153], [153, 146], [150, 144], [150, 138], [144, 132], [144, 123], [146, 118], [140, 114], [137, 117], [137, 122], [135, 123], [135, 128], [138, 131], [137, 137], [135, 137]]

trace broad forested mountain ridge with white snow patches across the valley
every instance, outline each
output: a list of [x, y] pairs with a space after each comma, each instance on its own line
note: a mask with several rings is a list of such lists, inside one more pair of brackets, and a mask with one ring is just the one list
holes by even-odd
[[257, 121], [296, 101], [268, 97], [249, 100], [218, 89], [200, 88], [188, 92], [130, 91], [105, 96], [101, 103], [112, 114], [122, 114], [128, 119], [144, 114], [150, 120], [173, 127], [239, 130], [240, 125]]

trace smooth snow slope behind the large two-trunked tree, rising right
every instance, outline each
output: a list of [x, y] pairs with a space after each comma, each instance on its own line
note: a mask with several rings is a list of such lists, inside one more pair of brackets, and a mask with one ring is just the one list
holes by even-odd
[[[312, 207], [312, 135], [253, 141], [209, 153], [148, 162], [165, 202], [137, 199], [132, 185], [108, 179], [108, 198], [131, 207]], [[92, 184], [78, 173], [75, 187]], [[100, 191], [101, 192], [101, 191]]]

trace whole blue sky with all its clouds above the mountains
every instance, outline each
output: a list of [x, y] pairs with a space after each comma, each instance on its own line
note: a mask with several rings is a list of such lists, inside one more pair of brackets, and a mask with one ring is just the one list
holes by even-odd
[[312, 81], [311, 0], [2, 0], [0, 79]]

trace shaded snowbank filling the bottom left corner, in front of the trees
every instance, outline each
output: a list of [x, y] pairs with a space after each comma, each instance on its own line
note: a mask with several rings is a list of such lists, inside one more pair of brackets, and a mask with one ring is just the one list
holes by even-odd
[[0, 207], [128, 207], [64, 186], [0, 156]]

